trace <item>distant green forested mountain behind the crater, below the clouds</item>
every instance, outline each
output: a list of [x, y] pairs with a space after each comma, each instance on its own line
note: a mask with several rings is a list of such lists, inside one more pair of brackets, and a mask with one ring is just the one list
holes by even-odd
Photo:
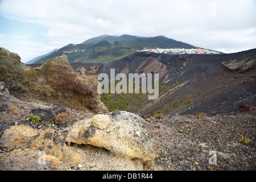
[[[35, 64], [65, 54], [69, 63], [108, 62], [129, 56], [143, 48], [197, 48], [187, 43], [168, 39], [164, 36], [144, 38], [132, 35], [101, 35], [81, 44], [68, 44], [47, 56], [36, 60]], [[30, 62], [31, 63], [31, 62]]]

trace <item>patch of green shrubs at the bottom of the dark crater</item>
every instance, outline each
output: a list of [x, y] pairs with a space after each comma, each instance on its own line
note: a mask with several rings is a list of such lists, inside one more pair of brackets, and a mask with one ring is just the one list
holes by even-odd
[[[115, 85], [117, 85], [118, 81], [115, 81]], [[177, 83], [178, 84], [178, 83]], [[135, 81], [133, 82], [133, 89], [135, 89]], [[154, 82], [153, 82], [154, 85]], [[110, 90], [110, 84], [109, 84]], [[125, 110], [131, 111], [133, 113], [140, 114], [150, 114], [152, 117], [155, 116], [155, 109], [160, 109], [160, 113], [169, 114], [172, 110], [178, 109], [182, 107], [182, 105], [191, 104], [192, 98], [191, 96], [187, 96], [185, 98], [179, 98], [179, 100], [174, 100], [172, 102], [172, 98], [162, 97], [156, 100], [148, 100], [148, 93], [141, 93], [142, 88], [139, 87], [140, 93], [121, 93], [121, 94], [112, 94], [112, 93], [102, 93], [100, 100], [108, 107], [109, 111], [114, 110]], [[159, 82], [159, 96], [162, 96], [164, 93], [170, 90], [170, 87], [166, 85], [160, 85]], [[151, 104], [147, 106], [147, 104]], [[162, 105], [163, 104], [163, 105]], [[170, 106], [166, 104], [171, 104]], [[166, 105], [166, 106], [164, 106]], [[145, 107], [144, 107], [145, 106]], [[159, 114], [159, 113], [158, 113]]]

